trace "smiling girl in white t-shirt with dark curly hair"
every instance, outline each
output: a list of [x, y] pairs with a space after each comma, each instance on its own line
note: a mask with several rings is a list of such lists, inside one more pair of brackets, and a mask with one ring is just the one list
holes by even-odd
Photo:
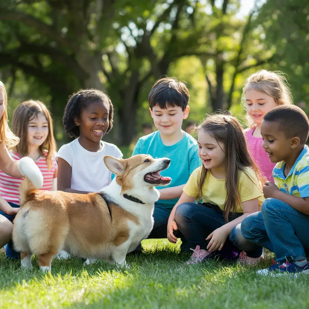
[[72, 193], [97, 192], [111, 182], [105, 155], [122, 158], [119, 148], [101, 141], [113, 126], [114, 107], [108, 95], [96, 89], [74, 93], [63, 116], [63, 125], [73, 142], [63, 145], [57, 154], [57, 188]]

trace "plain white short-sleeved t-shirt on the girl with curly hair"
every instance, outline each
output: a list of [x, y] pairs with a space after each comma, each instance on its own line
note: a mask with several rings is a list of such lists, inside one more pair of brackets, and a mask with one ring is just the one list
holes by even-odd
[[78, 138], [61, 146], [56, 156], [66, 160], [72, 167], [71, 189], [98, 192], [111, 183], [112, 172], [104, 164], [105, 155], [121, 159], [120, 149], [110, 143], [101, 141], [102, 149], [91, 152], [83, 148]]

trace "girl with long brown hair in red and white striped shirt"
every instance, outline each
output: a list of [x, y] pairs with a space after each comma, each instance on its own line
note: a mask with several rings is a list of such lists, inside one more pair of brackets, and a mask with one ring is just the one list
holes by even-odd
[[[56, 142], [53, 136], [53, 121], [46, 106], [40, 101], [25, 101], [18, 105], [12, 118], [12, 130], [20, 138], [11, 152], [18, 161], [28, 156], [33, 159], [43, 175], [43, 190], [57, 190]], [[19, 186], [22, 179], [12, 178], [0, 171], [0, 194], [11, 207], [19, 207]], [[5, 215], [13, 222], [15, 214]], [[6, 255], [18, 258], [12, 242], [6, 246]]]

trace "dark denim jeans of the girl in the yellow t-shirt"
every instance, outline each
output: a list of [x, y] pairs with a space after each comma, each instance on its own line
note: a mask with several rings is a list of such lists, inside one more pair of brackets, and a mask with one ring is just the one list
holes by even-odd
[[[242, 213], [236, 213], [235, 217], [241, 216]], [[232, 215], [229, 216], [229, 221], [235, 219]], [[194, 204], [183, 203], [176, 208], [175, 221], [177, 223], [179, 231], [188, 240], [191, 248], [195, 248], [197, 245], [201, 249], [207, 248], [209, 240], [206, 240], [214, 230], [226, 224], [223, 211], [217, 206], [210, 203]], [[227, 255], [228, 252], [235, 252], [236, 255], [240, 252], [239, 248], [236, 248], [230, 239], [226, 239], [226, 242], [221, 253]]]

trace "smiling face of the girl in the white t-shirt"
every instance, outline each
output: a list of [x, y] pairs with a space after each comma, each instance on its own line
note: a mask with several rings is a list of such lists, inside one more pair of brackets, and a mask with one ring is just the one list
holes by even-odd
[[108, 129], [108, 115], [109, 105], [102, 101], [93, 102], [82, 109], [79, 118], [74, 119], [79, 126], [80, 137], [91, 142], [100, 142]]

